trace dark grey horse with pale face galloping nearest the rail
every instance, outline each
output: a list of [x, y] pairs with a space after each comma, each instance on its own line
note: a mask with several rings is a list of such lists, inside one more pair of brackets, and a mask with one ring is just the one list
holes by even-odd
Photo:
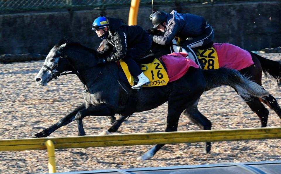
[[[126, 117], [134, 112], [147, 111], [168, 101], [166, 132], [177, 131], [178, 120], [184, 110], [197, 110], [199, 97], [205, 89], [220, 85], [233, 86], [242, 97], [263, 97], [268, 93], [255, 82], [248, 80], [236, 70], [219, 68], [201, 70], [190, 68], [179, 80], [160, 87], [144, 87], [140, 91], [131, 89], [127, 82], [119, 79], [116, 63], [97, 64], [97, 51], [76, 42], [61, 41], [49, 52], [41, 70], [35, 77], [40, 86], [72, 71], [83, 83], [83, 103], [57, 123], [31, 137], [47, 137], [52, 132], [76, 120], [78, 135], [85, 135], [82, 119], [86, 116], [111, 116], [120, 114], [120, 122], [112, 125], [114, 132]], [[197, 110], [198, 111], [198, 110]], [[198, 114], [201, 114], [198, 111]], [[202, 115], [202, 114], [201, 114]], [[164, 144], [153, 148], [153, 155]], [[150, 151], [151, 152], [151, 151]], [[149, 158], [151, 156], [148, 156]], [[148, 159], [148, 158], [145, 158]]]

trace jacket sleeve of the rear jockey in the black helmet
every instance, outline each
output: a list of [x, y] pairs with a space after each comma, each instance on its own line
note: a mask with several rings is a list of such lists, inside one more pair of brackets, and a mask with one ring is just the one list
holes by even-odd
[[178, 30], [179, 28], [176, 23], [170, 23], [167, 25], [167, 30], [163, 36], [153, 36], [153, 42], [161, 45], [169, 44], [176, 36]]

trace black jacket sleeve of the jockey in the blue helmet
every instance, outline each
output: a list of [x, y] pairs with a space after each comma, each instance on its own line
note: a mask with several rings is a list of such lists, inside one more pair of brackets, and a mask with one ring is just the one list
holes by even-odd
[[112, 41], [115, 44], [116, 53], [106, 59], [107, 62], [115, 62], [123, 58], [127, 51], [127, 36], [122, 29], [114, 33]]

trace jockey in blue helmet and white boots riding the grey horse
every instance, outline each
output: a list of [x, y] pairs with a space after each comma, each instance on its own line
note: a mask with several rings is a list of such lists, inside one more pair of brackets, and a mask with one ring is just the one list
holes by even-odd
[[[134, 61], [141, 58], [150, 49], [152, 44], [148, 32], [138, 25], [128, 26], [123, 24], [121, 19], [105, 17], [102, 14], [96, 18], [92, 24], [98, 37], [105, 40], [104, 49], [99, 51], [102, 56], [107, 58], [100, 59], [98, 63], [115, 62], [120, 59], [128, 65], [130, 73], [138, 77], [138, 84], [132, 89], [139, 88], [141, 85], [148, 85], [149, 79], [143, 74], [142, 70]], [[112, 54], [116, 49], [116, 53]], [[111, 54], [111, 56], [109, 56]]]

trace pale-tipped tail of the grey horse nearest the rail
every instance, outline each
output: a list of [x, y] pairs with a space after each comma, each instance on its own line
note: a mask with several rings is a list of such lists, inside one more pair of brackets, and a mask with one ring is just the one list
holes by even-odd
[[236, 89], [238, 94], [244, 99], [251, 96], [262, 98], [269, 93], [262, 86], [241, 75], [239, 71], [229, 68], [219, 68], [216, 70], [202, 70], [206, 80], [205, 90], [213, 89], [222, 85], [229, 85]]

